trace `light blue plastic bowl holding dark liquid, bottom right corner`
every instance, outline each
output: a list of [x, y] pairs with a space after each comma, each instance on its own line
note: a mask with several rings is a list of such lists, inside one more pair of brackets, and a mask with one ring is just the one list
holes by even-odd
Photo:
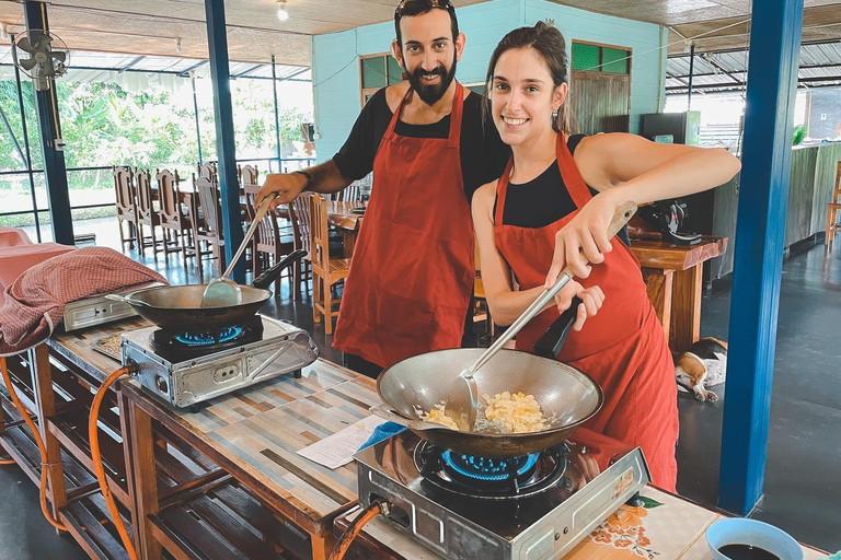
[[706, 529], [706, 544], [713, 560], [729, 560], [718, 551], [727, 545], [751, 545], [780, 557], [780, 560], [804, 560], [803, 548], [782, 529], [756, 520], [721, 520]]

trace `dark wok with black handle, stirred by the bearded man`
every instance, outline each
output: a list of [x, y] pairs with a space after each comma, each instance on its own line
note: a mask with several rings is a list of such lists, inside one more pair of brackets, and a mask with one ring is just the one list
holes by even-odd
[[265, 289], [287, 267], [306, 254], [296, 250], [254, 279], [254, 285], [243, 285], [242, 303], [237, 305], [203, 307], [201, 296], [207, 284], [162, 285], [138, 290], [128, 295], [108, 298], [124, 301], [138, 315], [168, 330], [212, 330], [240, 324], [260, 311], [272, 296]]

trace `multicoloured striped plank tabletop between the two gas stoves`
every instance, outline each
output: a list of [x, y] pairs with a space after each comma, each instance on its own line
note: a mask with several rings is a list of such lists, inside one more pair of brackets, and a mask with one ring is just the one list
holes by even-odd
[[329, 536], [332, 520], [356, 503], [356, 466], [331, 470], [296, 452], [368, 417], [379, 397], [372, 380], [330, 362], [318, 360], [302, 373], [214, 399], [196, 413], [135, 382], [123, 392], [280, 514]]

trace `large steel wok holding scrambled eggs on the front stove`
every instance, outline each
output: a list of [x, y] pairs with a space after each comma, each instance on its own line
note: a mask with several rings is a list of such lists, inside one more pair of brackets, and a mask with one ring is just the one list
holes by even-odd
[[[460, 348], [415, 355], [383, 371], [377, 390], [385, 404], [379, 416], [407, 425], [419, 438], [443, 448], [485, 457], [512, 457], [548, 450], [560, 444], [599, 411], [601, 388], [580, 371], [556, 360], [500, 350], [475, 374], [480, 395], [522, 392], [534, 395], [546, 418], [548, 430], [531, 433], [461, 432], [446, 428], [423, 428], [417, 411], [428, 412], [446, 402], [452, 380], [479, 358], [484, 349]], [[383, 411], [383, 408], [385, 411]], [[388, 413], [392, 409], [395, 413]]]

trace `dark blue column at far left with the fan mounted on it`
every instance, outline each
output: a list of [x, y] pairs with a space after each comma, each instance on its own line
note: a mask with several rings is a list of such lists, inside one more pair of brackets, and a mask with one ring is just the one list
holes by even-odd
[[[26, 21], [30, 43], [34, 45], [42, 32], [49, 32], [47, 4], [25, 1], [23, 2], [23, 16]], [[41, 129], [41, 150], [44, 153], [44, 176], [47, 179], [49, 218], [53, 222], [53, 238], [56, 243], [73, 245], [76, 244], [73, 218], [70, 213], [70, 192], [67, 186], [61, 120], [58, 117], [58, 97], [56, 96], [55, 82], [50, 82], [49, 85], [48, 90], [35, 92], [35, 106], [38, 112], [38, 128]]]

